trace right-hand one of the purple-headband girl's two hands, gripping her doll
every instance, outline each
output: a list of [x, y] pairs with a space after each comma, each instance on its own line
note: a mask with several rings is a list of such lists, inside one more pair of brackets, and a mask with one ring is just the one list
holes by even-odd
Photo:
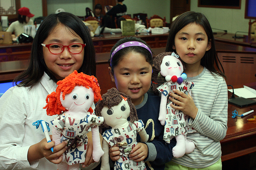
[[133, 159], [136, 162], [142, 161], [148, 156], [148, 146], [144, 143], [138, 143], [134, 148], [132, 148], [129, 154], [129, 159]]

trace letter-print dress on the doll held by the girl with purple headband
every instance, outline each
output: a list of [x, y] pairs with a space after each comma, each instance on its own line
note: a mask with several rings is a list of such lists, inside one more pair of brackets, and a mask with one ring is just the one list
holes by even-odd
[[135, 162], [128, 157], [132, 148], [137, 144], [137, 133], [140, 132], [143, 127], [144, 124], [142, 120], [139, 120], [134, 123], [129, 122], [129, 125], [122, 129], [109, 129], [102, 134], [103, 139], [111, 146], [115, 144], [119, 145], [120, 158], [115, 161], [114, 170], [146, 170], [143, 160]]

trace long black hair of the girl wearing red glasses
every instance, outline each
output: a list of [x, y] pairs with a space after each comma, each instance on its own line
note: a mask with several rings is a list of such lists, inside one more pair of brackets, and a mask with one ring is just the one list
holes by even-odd
[[77, 71], [79, 73], [83, 72], [84, 74], [90, 76], [96, 75], [95, 48], [93, 46], [90, 33], [88, 32], [84, 23], [74, 14], [60, 12], [57, 14], [53, 13], [48, 15], [38, 27], [31, 48], [28, 69], [13, 80], [16, 85], [18, 85], [18, 82], [20, 82], [18, 86], [32, 88], [40, 81], [44, 75], [44, 72], [46, 72], [48, 76], [55, 82], [58, 81], [52, 75], [51, 71], [47, 68], [44, 62], [43, 48], [41, 43], [44, 42], [52, 30], [59, 24], [66, 26], [71, 33], [76, 33], [86, 44], [84, 47], [84, 61], [80, 69]]

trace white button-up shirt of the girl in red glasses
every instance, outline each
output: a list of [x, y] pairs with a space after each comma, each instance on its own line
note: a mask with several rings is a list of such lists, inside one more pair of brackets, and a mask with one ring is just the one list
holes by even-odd
[[[57, 165], [45, 158], [31, 165], [27, 158], [29, 147], [45, 138], [42, 129], [36, 129], [32, 123], [37, 120], [50, 123], [56, 117], [46, 115], [46, 109], [43, 109], [46, 96], [56, 87], [44, 73], [40, 83], [31, 90], [14, 86], [0, 98], [0, 169], [57, 169]], [[49, 134], [52, 135], [52, 129]]]

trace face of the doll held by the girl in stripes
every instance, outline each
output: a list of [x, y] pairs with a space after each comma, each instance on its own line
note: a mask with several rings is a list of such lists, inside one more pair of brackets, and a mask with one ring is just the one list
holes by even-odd
[[161, 64], [161, 75], [162, 76], [180, 76], [183, 72], [183, 65], [181, 61], [172, 55], [166, 55], [163, 58]]

